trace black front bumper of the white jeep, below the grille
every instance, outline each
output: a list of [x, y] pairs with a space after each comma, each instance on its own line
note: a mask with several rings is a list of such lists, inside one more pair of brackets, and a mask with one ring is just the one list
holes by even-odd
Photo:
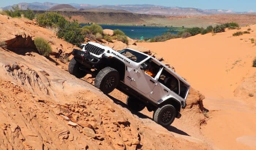
[[97, 65], [100, 62], [99, 58], [91, 55], [90, 52], [87, 51], [74, 49], [72, 55], [74, 55], [76, 62], [83, 64], [84, 66], [87, 66], [88, 64]]

